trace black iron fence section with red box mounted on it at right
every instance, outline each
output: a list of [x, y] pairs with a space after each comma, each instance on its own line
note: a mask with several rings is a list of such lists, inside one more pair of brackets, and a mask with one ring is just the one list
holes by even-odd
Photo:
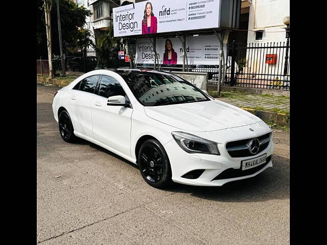
[[290, 46], [285, 42], [232, 43], [223, 84], [289, 90], [289, 52]]

